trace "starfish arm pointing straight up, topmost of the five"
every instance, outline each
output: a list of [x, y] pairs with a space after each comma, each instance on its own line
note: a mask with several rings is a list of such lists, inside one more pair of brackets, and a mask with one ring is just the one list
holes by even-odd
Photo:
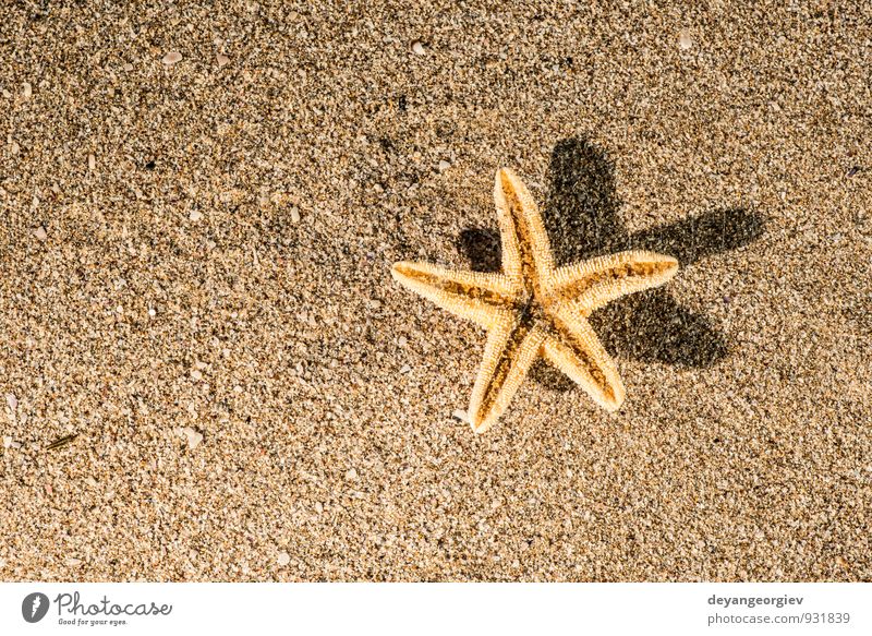
[[554, 269], [548, 233], [526, 185], [508, 168], [497, 170], [494, 202], [502, 238], [502, 272], [533, 286]]

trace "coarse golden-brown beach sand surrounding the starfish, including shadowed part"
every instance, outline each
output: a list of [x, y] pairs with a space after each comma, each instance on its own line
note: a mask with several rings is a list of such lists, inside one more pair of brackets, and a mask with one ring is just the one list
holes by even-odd
[[[872, 579], [872, 11], [0, 8], [0, 579]], [[391, 263], [681, 262], [616, 415]], [[75, 435], [57, 448], [52, 442]]]

